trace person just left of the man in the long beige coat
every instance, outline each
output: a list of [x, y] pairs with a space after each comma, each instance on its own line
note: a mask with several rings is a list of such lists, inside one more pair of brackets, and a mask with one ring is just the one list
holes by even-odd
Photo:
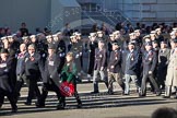
[[161, 42], [157, 63], [157, 82], [162, 90], [165, 88], [165, 80], [167, 74], [167, 66], [169, 62], [170, 49], [167, 48], [167, 42]]

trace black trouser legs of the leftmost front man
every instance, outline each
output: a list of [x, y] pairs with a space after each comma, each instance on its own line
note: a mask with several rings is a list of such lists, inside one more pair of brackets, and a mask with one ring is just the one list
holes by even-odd
[[13, 96], [13, 93], [12, 92], [8, 92], [8, 91], [4, 91], [2, 88], [0, 88], [0, 106], [3, 104], [4, 96], [7, 96], [8, 99], [10, 101], [10, 104], [11, 104], [12, 109], [15, 109], [17, 106], [16, 106], [16, 103], [15, 103], [15, 99], [14, 99], [14, 96]]

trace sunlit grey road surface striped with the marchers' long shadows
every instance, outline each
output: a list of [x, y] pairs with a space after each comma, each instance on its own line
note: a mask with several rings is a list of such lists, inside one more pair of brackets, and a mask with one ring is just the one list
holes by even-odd
[[177, 99], [165, 99], [148, 91], [146, 97], [140, 98], [135, 93], [134, 84], [131, 84], [131, 93], [121, 95], [120, 86], [114, 83], [114, 95], [108, 95], [104, 83], [99, 83], [99, 93], [91, 94], [93, 85], [90, 82], [78, 84], [83, 107], [78, 109], [74, 97], [67, 97], [64, 110], [56, 110], [57, 97], [49, 92], [45, 108], [36, 108], [35, 99], [31, 106], [25, 106], [27, 87], [21, 91], [17, 102], [19, 110], [11, 114], [11, 106], [5, 99], [0, 109], [0, 118], [151, 118], [152, 113], [161, 107], [177, 109]]

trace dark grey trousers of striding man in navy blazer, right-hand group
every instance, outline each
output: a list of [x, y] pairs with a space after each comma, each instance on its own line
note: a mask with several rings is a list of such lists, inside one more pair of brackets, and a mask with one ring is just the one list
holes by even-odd
[[146, 81], [150, 79], [150, 82], [152, 83], [153, 87], [155, 88], [156, 92], [161, 92], [153, 74], [144, 74], [142, 78], [142, 83], [141, 83], [141, 94], [146, 95]]

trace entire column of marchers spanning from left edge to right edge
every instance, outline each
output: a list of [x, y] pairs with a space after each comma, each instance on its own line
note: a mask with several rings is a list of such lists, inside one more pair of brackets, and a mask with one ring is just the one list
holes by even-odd
[[[164, 39], [161, 28], [144, 37], [141, 37], [140, 30], [129, 36], [130, 38], [125, 40], [119, 31], [114, 32], [109, 37], [104, 36], [102, 31], [90, 34], [90, 40], [85, 46], [88, 50], [86, 73], [88, 79], [93, 76], [93, 93], [99, 92], [97, 76], [101, 74], [101, 80], [105, 82], [109, 94], [114, 94], [113, 82], [116, 80], [122, 88], [122, 94], [129, 95], [129, 84], [132, 80], [139, 95], [145, 96], [149, 79], [152, 91], [156, 95], [161, 95], [161, 91], [167, 86], [165, 97], [170, 97], [172, 90], [176, 86], [175, 70], [169, 72], [167, 70], [175, 68], [173, 62], [176, 62], [174, 61], [176, 59], [176, 28], [170, 33], [172, 39]], [[70, 51], [68, 55], [66, 55], [67, 46]], [[69, 82], [75, 84], [78, 76], [81, 78], [84, 73], [82, 69], [83, 42], [80, 33], [76, 32], [70, 36], [69, 45], [64, 42], [62, 34], [57, 33], [49, 36], [44, 34], [25, 36], [22, 39], [17, 39], [15, 35], [2, 37], [1, 47], [0, 106], [4, 96], [8, 96], [12, 111], [16, 111], [20, 91], [26, 82], [28, 96], [25, 105], [32, 105], [32, 99], [36, 96], [36, 106], [44, 107], [48, 91], [55, 91], [59, 99], [57, 108], [64, 108], [64, 96], [58, 88], [59, 81], [69, 79]], [[44, 83], [42, 94], [37, 86], [39, 78]], [[81, 107], [78, 92], [75, 91], [73, 95], [78, 107]]]

